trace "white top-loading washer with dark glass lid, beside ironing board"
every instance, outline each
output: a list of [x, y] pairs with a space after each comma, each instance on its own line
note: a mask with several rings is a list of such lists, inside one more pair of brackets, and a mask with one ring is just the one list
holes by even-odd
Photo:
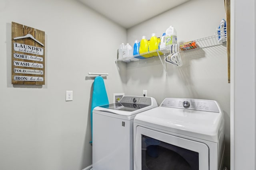
[[157, 107], [151, 97], [124, 96], [120, 102], [95, 107], [92, 121], [92, 169], [133, 169], [133, 119]]

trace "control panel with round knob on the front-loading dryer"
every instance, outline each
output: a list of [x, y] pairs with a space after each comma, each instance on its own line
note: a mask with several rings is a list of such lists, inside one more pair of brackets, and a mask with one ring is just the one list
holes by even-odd
[[220, 112], [217, 103], [213, 100], [166, 98], [162, 107], [175, 107], [180, 109], [192, 109], [202, 111]]

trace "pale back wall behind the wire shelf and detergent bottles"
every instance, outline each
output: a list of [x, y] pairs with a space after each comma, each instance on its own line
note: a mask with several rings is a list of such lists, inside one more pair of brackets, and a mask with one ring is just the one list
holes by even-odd
[[[139, 13], [138, 13], [139, 14]], [[220, 21], [226, 18], [223, 0], [190, 0], [174, 9], [128, 29], [128, 43], [151, 33], [162, 36], [166, 28], [174, 26], [178, 42], [192, 41], [214, 35]], [[216, 100], [224, 111], [226, 151], [225, 164], [230, 161], [230, 84], [226, 47], [182, 53], [183, 66], [167, 64], [165, 74], [159, 59], [148, 59], [127, 65], [127, 94], [156, 98], [200, 98]]]

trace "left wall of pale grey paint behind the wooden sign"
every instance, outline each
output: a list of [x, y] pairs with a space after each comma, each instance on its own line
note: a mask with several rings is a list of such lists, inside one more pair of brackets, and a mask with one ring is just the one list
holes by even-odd
[[[109, 102], [125, 92], [114, 59], [126, 29], [74, 0], [0, 1], [0, 169], [81, 170], [92, 164], [88, 72], [109, 73]], [[11, 84], [11, 22], [45, 31], [46, 84]], [[65, 102], [65, 91], [73, 101]]]

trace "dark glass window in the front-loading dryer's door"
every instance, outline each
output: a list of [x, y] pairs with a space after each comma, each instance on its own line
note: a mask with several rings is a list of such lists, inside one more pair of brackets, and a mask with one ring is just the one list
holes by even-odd
[[142, 135], [142, 170], [199, 170], [198, 152]]

